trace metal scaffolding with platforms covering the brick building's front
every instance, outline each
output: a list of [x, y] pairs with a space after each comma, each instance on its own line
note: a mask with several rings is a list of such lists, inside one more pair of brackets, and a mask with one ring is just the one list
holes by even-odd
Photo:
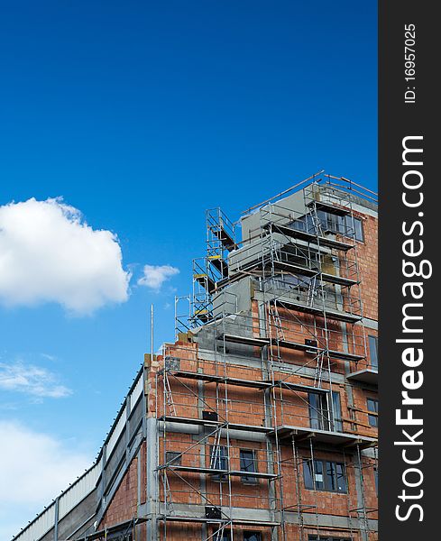
[[[363, 365], [353, 203], [373, 195], [330, 175], [295, 188], [303, 189], [303, 211], [264, 202], [253, 208], [258, 225], [240, 243], [220, 209], [207, 211], [207, 256], [193, 263], [187, 324], [181, 318], [177, 325], [189, 343], [166, 345], [157, 374], [164, 539], [168, 524], [177, 522], [202, 525], [207, 540], [234, 539], [248, 528], [286, 541], [293, 538], [287, 513], [297, 516], [295, 538], [326, 538], [335, 527], [319, 524], [317, 484], [324, 473], [316, 468], [324, 467], [317, 454], [330, 447], [344, 457], [348, 526], [341, 529], [350, 538], [370, 538], [376, 509], [366, 502], [363, 472], [374, 470], [376, 451], [364, 463], [361, 451], [376, 449], [376, 439], [359, 418], [366, 412], [348, 405], [349, 417], [338, 413], [333, 373], [345, 373], [349, 363], [354, 374], [363, 372], [359, 381], [372, 376]], [[229, 290], [244, 277], [260, 295], [249, 315], [239, 314]], [[192, 342], [200, 326], [211, 335], [211, 358]], [[243, 449], [247, 434], [260, 445]], [[308, 491], [300, 480], [305, 468]], [[291, 477], [295, 492], [287, 493]]]

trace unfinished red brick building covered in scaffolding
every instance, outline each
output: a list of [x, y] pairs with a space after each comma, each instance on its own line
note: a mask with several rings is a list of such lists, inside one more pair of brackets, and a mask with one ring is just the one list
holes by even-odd
[[373, 541], [376, 195], [323, 171], [231, 222], [96, 463], [14, 541]]

